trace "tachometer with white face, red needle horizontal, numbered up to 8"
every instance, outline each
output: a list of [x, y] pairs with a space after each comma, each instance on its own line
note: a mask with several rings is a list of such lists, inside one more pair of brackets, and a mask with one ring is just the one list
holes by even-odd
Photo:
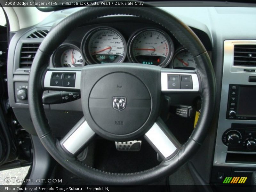
[[164, 31], [143, 29], [129, 40], [129, 59], [134, 63], [165, 67], [173, 55], [173, 43]]

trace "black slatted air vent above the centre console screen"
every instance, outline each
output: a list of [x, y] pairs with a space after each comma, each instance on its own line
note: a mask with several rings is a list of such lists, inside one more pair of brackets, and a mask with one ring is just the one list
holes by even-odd
[[256, 67], [256, 44], [235, 45], [234, 66]]

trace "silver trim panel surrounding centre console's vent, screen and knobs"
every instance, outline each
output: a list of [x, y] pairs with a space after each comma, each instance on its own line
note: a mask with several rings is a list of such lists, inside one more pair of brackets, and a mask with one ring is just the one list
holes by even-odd
[[256, 152], [231, 152], [231, 151], [228, 151], [228, 147], [222, 143], [222, 134], [228, 128], [231, 128], [232, 123], [256, 124], [256, 121], [253, 121], [253, 120], [226, 119], [229, 84], [256, 85], [256, 83], [248, 82], [249, 76], [255, 76], [256, 73], [244, 72], [243, 70], [243, 69], [256, 69], [256, 67], [233, 66], [235, 44], [256, 44], [256, 40], [224, 41], [223, 77], [222, 77], [222, 88], [221, 88], [221, 99], [220, 99], [220, 113], [219, 113], [219, 122], [218, 122], [213, 165], [232, 166], [232, 167], [255, 167], [256, 164], [252, 164], [252, 163], [248, 163], [248, 164], [225, 163], [227, 153], [256, 154]]

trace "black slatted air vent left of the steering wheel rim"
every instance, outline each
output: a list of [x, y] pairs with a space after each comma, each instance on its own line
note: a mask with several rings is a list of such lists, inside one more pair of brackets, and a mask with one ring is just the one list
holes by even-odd
[[20, 68], [30, 68], [40, 43], [23, 43], [20, 52]]

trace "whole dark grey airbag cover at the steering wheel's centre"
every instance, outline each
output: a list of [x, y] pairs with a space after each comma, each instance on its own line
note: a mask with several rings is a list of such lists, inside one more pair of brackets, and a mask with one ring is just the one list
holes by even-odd
[[[160, 68], [136, 64], [85, 67], [81, 95], [85, 118], [93, 131], [111, 140], [145, 133], [156, 119]], [[90, 94], [88, 94], [90, 93]]]

